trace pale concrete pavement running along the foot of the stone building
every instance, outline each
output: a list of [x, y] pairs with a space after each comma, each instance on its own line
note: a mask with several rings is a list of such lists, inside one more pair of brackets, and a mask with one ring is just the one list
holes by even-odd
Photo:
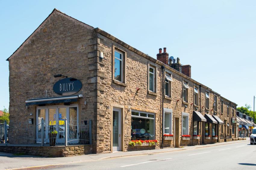
[[[74, 157], [61, 157], [61, 158], [48, 158], [48, 157], [35, 157], [30, 155], [13, 155], [8, 153], [0, 153], [0, 169], [15, 169], [24, 167], [34, 167], [34, 166], [52, 166], [52, 165], [74, 165], [83, 164], [86, 162], [113, 159], [113, 158], [123, 158], [123, 157], [134, 157], [143, 155], [155, 155], [161, 153], [171, 153], [177, 151], [192, 151], [196, 152], [195, 149], [208, 148], [213, 146], [225, 146], [229, 144], [248, 144], [249, 139], [243, 141], [234, 142], [223, 142], [208, 145], [197, 145], [197, 146], [185, 146], [183, 148], [164, 148], [146, 151], [132, 151], [132, 152], [114, 152], [109, 154], [90, 154], [90, 155], [80, 155]], [[256, 147], [255, 147], [256, 148]], [[46, 168], [46, 167], [45, 167]]]

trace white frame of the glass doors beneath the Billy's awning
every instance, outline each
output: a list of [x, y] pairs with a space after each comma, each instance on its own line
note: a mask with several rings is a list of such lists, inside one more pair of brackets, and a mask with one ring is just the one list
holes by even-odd
[[[45, 124], [48, 126], [49, 125], [49, 109], [56, 109], [56, 126], [58, 126], [59, 124], [59, 108], [66, 108], [66, 117], [67, 117], [67, 124], [69, 124], [69, 108], [70, 107], [77, 107], [77, 127], [79, 127], [79, 117], [78, 117], [78, 111], [79, 111], [79, 107], [77, 104], [70, 104], [70, 105], [58, 105], [58, 106], [38, 106], [36, 107], [36, 125], [38, 125], [38, 110], [39, 109], [45, 109]], [[45, 138], [48, 139], [48, 127], [45, 127]], [[69, 136], [69, 127], [67, 127], [67, 135]], [[57, 130], [58, 134], [59, 134], [59, 129]], [[77, 134], [76, 136], [78, 137], [78, 133], [79, 130], [77, 129]], [[36, 141], [41, 142], [41, 137], [38, 138], [38, 126], [36, 128]], [[64, 143], [65, 142], [65, 138], [59, 139], [59, 135], [57, 135], [56, 138], [56, 143]], [[77, 140], [78, 142], [78, 140]], [[49, 143], [49, 139], [48, 140], [44, 140], [44, 143]]]

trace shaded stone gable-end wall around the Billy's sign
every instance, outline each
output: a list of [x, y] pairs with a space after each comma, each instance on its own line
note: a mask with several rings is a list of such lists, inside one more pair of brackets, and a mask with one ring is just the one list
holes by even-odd
[[[89, 57], [94, 53], [93, 27], [73, 19], [57, 10], [9, 58], [10, 124], [27, 126], [28, 119], [36, 124], [36, 106], [25, 106], [31, 98], [58, 97], [53, 91], [56, 74], [79, 79], [83, 87], [77, 94], [79, 99], [79, 121], [92, 119], [93, 145], [96, 152], [96, 96], [91, 79], [97, 72], [93, 70], [94, 61]], [[86, 105], [84, 102], [86, 101]], [[63, 105], [63, 103], [59, 103]], [[47, 105], [50, 106], [50, 105]], [[32, 113], [32, 116], [30, 115]]]

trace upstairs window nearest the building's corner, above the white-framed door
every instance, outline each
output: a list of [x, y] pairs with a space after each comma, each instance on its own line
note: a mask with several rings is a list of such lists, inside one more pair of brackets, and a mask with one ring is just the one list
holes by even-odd
[[123, 82], [123, 53], [115, 50], [114, 79]]

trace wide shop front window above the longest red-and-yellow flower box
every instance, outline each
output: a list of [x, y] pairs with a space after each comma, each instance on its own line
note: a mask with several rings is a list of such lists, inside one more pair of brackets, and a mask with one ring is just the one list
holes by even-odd
[[155, 139], [155, 115], [132, 111], [131, 140]]

